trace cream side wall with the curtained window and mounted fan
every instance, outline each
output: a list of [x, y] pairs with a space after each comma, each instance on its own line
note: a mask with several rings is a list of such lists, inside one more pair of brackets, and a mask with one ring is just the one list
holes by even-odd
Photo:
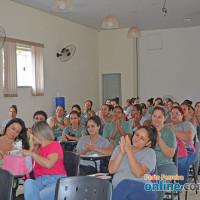
[[[94, 109], [98, 108], [97, 31], [8, 0], [0, 0], [0, 25], [8, 37], [45, 45], [45, 95], [32, 97], [30, 88], [19, 88], [18, 97], [5, 98], [1, 78], [0, 124], [8, 118], [12, 104], [17, 105], [18, 117], [24, 119], [27, 126], [32, 125], [33, 113], [38, 109], [51, 115], [58, 92], [66, 98], [68, 112], [73, 103], [83, 107], [87, 99], [94, 102]], [[56, 53], [69, 44], [75, 44], [77, 51], [68, 62], [62, 63]]]

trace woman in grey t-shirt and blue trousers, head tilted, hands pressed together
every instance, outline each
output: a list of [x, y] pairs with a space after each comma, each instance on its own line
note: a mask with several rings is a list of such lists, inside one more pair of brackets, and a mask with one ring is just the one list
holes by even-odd
[[156, 199], [157, 192], [144, 189], [145, 183], [151, 183], [144, 175], [151, 176], [156, 167], [156, 140], [154, 126], [140, 127], [132, 138], [133, 145], [128, 136], [121, 137], [108, 166], [109, 173], [114, 174], [113, 200]]

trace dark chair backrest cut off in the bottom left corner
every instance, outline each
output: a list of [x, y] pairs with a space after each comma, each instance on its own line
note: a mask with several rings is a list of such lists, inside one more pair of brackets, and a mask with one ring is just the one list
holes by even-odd
[[5, 170], [0, 169], [0, 199], [11, 200], [13, 188], [13, 175]]

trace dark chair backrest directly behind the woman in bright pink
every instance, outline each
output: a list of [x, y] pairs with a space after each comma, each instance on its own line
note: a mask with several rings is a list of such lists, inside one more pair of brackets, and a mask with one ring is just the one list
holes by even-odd
[[80, 156], [71, 151], [63, 151], [64, 154], [64, 166], [67, 172], [67, 176], [78, 176]]

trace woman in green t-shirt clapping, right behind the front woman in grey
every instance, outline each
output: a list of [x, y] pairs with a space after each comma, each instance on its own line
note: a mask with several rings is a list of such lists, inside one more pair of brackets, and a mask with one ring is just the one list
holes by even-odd
[[[176, 135], [173, 130], [166, 127], [164, 122], [167, 118], [164, 107], [157, 106], [153, 109], [152, 123], [157, 128], [158, 138], [156, 151], [157, 174], [165, 174], [166, 176], [175, 176], [178, 171], [173, 157], [177, 148]], [[164, 191], [158, 192], [158, 200], [164, 198]]]

